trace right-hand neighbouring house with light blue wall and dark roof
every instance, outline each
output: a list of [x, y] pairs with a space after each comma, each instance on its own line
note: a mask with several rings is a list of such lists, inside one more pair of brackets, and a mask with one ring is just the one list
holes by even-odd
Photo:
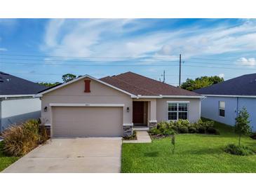
[[207, 97], [201, 104], [203, 117], [235, 125], [238, 111], [245, 107], [252, 130], [256, 131], [256, 74], [238, 76], [194, 92]]

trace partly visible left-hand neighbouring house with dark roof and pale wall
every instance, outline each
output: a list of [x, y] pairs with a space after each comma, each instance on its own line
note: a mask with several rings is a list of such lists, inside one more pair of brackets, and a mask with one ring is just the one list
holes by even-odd
[[0, 128], [41, 116], [41, 100], [33, 96], [46, 89], [32, 81], [0, 71]]

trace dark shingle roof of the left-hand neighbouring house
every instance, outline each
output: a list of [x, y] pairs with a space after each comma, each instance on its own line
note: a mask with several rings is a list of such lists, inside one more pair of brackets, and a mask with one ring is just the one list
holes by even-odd
[[43, 85], [0, 71], [0, 95], [34, 95], [43, 89]]

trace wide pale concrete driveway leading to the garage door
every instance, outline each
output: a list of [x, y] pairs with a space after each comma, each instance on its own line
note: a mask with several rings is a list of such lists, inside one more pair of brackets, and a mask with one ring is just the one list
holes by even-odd
[[55, 138], [3, 172], [120, 172], [121, 137]]

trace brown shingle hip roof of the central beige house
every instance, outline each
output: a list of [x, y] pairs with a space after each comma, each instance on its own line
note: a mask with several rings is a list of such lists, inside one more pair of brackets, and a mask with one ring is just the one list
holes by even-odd
[[133, 72], [126, 72], [116, 76], [107, 76], [100, 79], [117, 88], [126, 90], [134, 95], [182, 95], [182, 96], [200, 96], [196, 92], [176, 88], [166, 83], [161, 83], [151, 78], [135, 74]]

